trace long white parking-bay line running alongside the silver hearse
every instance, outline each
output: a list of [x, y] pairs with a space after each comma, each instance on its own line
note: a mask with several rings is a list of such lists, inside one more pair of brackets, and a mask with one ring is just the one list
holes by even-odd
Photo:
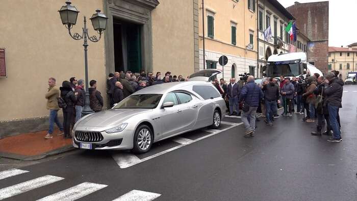
[[[146, 158], [143, 158], [143, 159], [141, 159], [141, 160], [138, 159], [138, 160], [135, 160], [135, 161], [130, 161], [130, 163], [126, 163], [125, 159], [122, 159], [122, 158], [114, 158], [114, 157], [113, 157], [113, 158], [114, 158], [115, 161], [117, 161], [117, 163], [118, 163], [118, 165], [119, 165], [120, 168], [123, 169], [123, 168], [131, 167], [131, 166], [133, 166], [133, 165], [136, 165], [136, 164], [145, 162], [145, 161], [147, 161], [147, 160], [156, 158], [156, 157], [161, 156], [161, 155], [163, 155], [163, 154], [172, 152], [173, 150], [178, 149], [178, 148], [181, 148], [181, 147], [183, 147], [183, 146], [192, 144], [192, 143], [194, 143], [194, 142], [197, 142], [197, 141], [203, 140], [203, 139], [205, 139], [205, 138], [211, 137], [211, 136], [213, 136], [213, 135], [216, 135], [216, 134], [222, 133], [222, 132], [224, 132], [224, 131], [230, 130], [230, 129], [232, 129], [232, 128], [234, 128], [234, 127], [237, 127], [238, 125], [241, 125], [241, 124], [243, 124], [243, 122], [242, 122], [242, 123], [237, 123], [236, 125], [232, 125], [231, 127], [227, 127], [227, 128], [225, 128], [225, 129], [219, 130], [219, 132], [214, 132], [214, 133], [211, 133], [211, 134], [202, 136], [202, 137], [197, 138], [197, 139], [195, 139], [195, 140], [192, 140], [192, 141], [190, 141], [190, 142], [188, 142], [188, 143], [186, 143], [186, 144], [180, 144], [180, 145], [177, 145], [177, 146], [175, 146], [175, 147], [166, 149], [166, 150], [164, 150], [163, 152], [160, 152], [160, 153], [151, 155], [151, 156], [146, 157]], [[126, 155], [131, 155], [131, 157], [136, 157], [134, 154], [126, 153]], [[136, 157], [136, 158], [137, 158], [137, 157]]]

